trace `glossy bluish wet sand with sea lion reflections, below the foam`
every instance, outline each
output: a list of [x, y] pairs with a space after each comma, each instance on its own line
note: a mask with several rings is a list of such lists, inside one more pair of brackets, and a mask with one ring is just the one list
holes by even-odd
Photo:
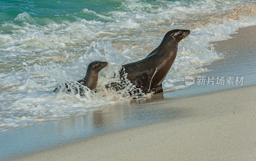
[[178, 99], [166, 99], [163, 94], [156, 94], [106, 105], [85, 115], [39, 122], [33, 126], [1, 132], [0, 142], [3, 148], [0, 153], [5, 154], [6, 158], [13, 156], [13, 153], [22, 156], [28, 154], [28, 151], [46, 150], [95, 135], [191, 115], [190, 109], [177, 106], [178, 102]]

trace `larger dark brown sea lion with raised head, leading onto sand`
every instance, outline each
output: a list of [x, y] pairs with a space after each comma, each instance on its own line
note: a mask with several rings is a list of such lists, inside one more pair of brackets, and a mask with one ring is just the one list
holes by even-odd
[[120, 78], [126, 77], [136, 88], [140, 88], [147, 94], [155, 90], [156, 93], [163, 92], [162, 82], [174, 62], [178, 43], [187, 38], [189, 30], [174, 29], [168, 31], [160, 43], [147, 57], [137, 62], [122, 65]]

